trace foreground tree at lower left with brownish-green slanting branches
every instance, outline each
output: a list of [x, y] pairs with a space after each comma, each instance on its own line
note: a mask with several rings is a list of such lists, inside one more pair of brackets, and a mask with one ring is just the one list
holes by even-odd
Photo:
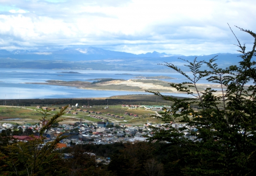
[[[61, 156], [59, 153], [54, 153], [53, 151], [58, 142], [67, 136], [59, 135], [53, 141], [45, 141], [45, 135], [52, 124], [60, 121], [58, 118], [64, 114], [64, 110], [67, 107], [68, 106], [61, 109], [60, 112], [49, 119], [48, 123], [39, 131], [39, 137], [31, 135], [31, 139], [27, 142], [11, 142], [2, 147], [6, 155], [1, 157], [1, 161], [4, 163], [1, 167], [8, 168], [2, 170], [4, 175], [44, 176], [61, 172], [58, 170], [58, 167], [61, 166], [61, 164], [58, 164]], [[42, 111], [39, 111], [43, 115], [42, 120], [50, 115], [50, 113], [48, 113], [49, 110], [42, 109]], [[0, 156], [1, 155], [3, 155], [3, 153], [0, 153]], [[52, 167], [55, 164], [57, 164], [57, 167], [53, 169]]]

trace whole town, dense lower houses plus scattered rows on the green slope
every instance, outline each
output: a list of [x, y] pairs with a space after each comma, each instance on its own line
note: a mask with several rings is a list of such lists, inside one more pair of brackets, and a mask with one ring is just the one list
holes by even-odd
[[[2, 108], [4, 108], [2, 106]], [[10, 108], [10, 107], [5, 107]], [[12, 107], [13, 108], [13, 107]], [[16, 108], [24, 108], [25, 107], [16, 107]], [[65, 107], [60, 107], [65, 108]], [[148, 106], [148, 105], [121, 105], [119, 108], [125, 108], [125, 110], [131, 110], [140, 108], [148, 113], [147, 122], [129, 123], [129, 121], [133, 119], [137, 119], [138, 121], [143, 119], [143, 115], [137, 115], [133, 113], [125, 112], [123, 115], [115, 115], [111, 113], [101, 113], [100, 111], [88, 110], [93, 109], [93, 107], [88, 107], [86, 105], [79, 108], [77, 106], [69, 106], [65, 110], [65, 115], [77, 115], [67, 116], [73, 118], [74, 121], [70, 121], [70, 123], [66, 123], [65, 121], [61, 121], [58, 124], [52, 126], [47, 133], [43, 136], [46, 137], [45, 142], [55, 140], [57, 136], [67, 136], [65, 139], [61, 140], [58, 144], [58, 149], [61, 150], [64, 147], [72, 147], [74, 144], [113, 144], [115, 142], [139, 142], [139, 141], [148, 141], [148, 137], [154, 136], [154, 128], [161, 128], [163, 130], [169, 130], [169, 127], [166, 127], [166, 123], [154, 123], [152, 122], [154, 117], [149, 117], [149, 114], [156, 114], [161, 116], [160, 112], [163, 112], [162, 106]], [[170, 108], [170, 107], [165, 107]], [[37, 106], [35, 108], [29, 107], [30, 110], [36, 110], [39, 112], [41, 110], [45, 110], [47, 113], [55, 112], [60, 109], [55, 107], [41, 107]], [[104, 107], [105, 111], [108, 111], [109, 107]], [[3, 109], [2, 109], [3, 112]], [[83, 114], [81, 114], [83, 113]], [[52, 114], [52, 113], [51, 113]], [[87, 116], [85, 116], [87, 114]], [[78, 117], [78, 115], [82, 115], [82, 117]], [[90, 120], [94, 119], [94, 121], [86, 120], [86, 117], [89, 117]], [[80, 120], [79, 120], [80, 119]], [[126, 120], [125, 120], [126, 119]], [[149, 119], [151, 119], [149, 121]], [[8, 119], [2, 119], [2, 121], [7, 121]], [[9, 119], [12, 120], [12, 119]], [[15, 119], [13, 119], [15, 120]], [[17, 120], [17, 119], [16, 119]], [[155, 120], [155, 119], [154, 119]], [[137, 121], [137, 122], [138, 122]], [[39, 121], [39, 123], [29, 124], [24, 123], [23, 125], [17, 124], [14, 122], [6, 122], [2, 123], [2, 127], [0, 127], [1, 133], [8, 133], [13, 138], [18, 141], [28, 141], [32, 139], [31, 135], [38, 136], [38, 131], [45, 125], [47, 125], [48, 120], [44, 119]], [[195, 136], [189, 136], [189, 133], [186, 132], [188, 130], [196, 131], [196, 127], [190, 127], [186, 124], [179, 124], [170, 121], [169, 125], [172, 125], [174, 128], [186, 127], [187, 130], [181, 131], [184, 133], [186, 138], [189, 138], [193, 141], [198, 141], [200, 139], [195, 138]], [[39, 136], [38, 136], [39, 137]]]

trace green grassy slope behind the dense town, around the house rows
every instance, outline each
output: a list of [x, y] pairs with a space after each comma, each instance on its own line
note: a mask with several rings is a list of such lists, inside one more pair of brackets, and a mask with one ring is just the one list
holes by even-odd
[[[108, 118], [109, 122], [114, 122], [116, 124], [117, 123], [127, 123], [127, 122], [124, 122], [123, 120], [128, 121], [128, 123], [141, 123], [141, 122], [144, 123], [146, 121], [159, 123], [157, 118], [150, 117], [151, 115], [155, 114], [155, 112], [153, 112], [151, 110], [145, 110], [144, 108], [129, 109], [128, 107], [121, 107], [121, 105], [109, 106], [108, 109], [104, 109], [103, 107], [105, 107], [105, 106], [93, 106], [91, 108], [81, 108], [81, 109], [93, 110], [95, 112], [100, 111], [102, 114], [100, 114], [99, 116], [106, 117], [106, 118]], [[58, 107], [56, 107], [56, 109], [57, 109], [57, 111], [49, 111], [48, 118], [52, 117], [52, 115], [54, 115], [56, 112], [58, 112], [58, 110], [59, 110]], [[38, 112], [40, 110], [41, 109], [37, 109], [36, 107], [22, 107], [21, 108], [21, 107], [0, 106], [0, 120], [3, 119], [3, 122], [7, 122], [7, 121], [5, 121], [5, 119], [20, 118], [20, 120], [8, 121], [8, 122], [13, 122], [14, 124], [16, 124], [16, 123], [18, 123], [18, 124], [19, 123], [20, 124], [26, 124], [26, 123], [35, 124], [43, 117], [43, 115], [40, 112]], [[75, 110], [71, 110], [71, 112], [75, 112]], [[139, 117], [134, 118], [132, 116], [124, 115], [124, 113], [126, 113], [126, 112], [137, 114], [137, 115], [139, 115]], [[113, 118], [113, 117], [107, 116], [106, 115], [107, 113], [123, 116], [123, 117], [125, 117], [125, 119]], [[78, 121], [77, 118], [83, 118], [84, 120], [89, 120], [89, 121], [93, 121], [93, 122], [101, 121], [99, 119], [90, 117], [90, 115], [95, 115], [95, 114], [89, 114], [89, 113], [83, 113], [83, 112], [78, 112], [77, 115], [64, 114], [60, 118], [60, 120], [65, 121], [65, 120], [72, 119], [72, 121]]]

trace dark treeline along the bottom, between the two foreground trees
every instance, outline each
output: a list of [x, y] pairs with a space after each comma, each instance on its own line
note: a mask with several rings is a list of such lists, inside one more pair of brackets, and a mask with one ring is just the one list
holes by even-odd
[[[73, 158], [64, 159], [66, 162], [78, 159], [81, 161], [87, 157], [82, 151], [95, 153], [101, 158], [110, 157], [109, 164], [98, 163], [97, 166], [102, 168], [102, 173], [116, 176], [182, 176], [183, 162], [180, 159], [186, 155], [186, 150], [180, 146], [147, 142], [76, 145], [61, 153], [73, 153]], [[76, 167], [79, 169], [81, 166]], [[73, 174], [76, 175], [74, 172]]]

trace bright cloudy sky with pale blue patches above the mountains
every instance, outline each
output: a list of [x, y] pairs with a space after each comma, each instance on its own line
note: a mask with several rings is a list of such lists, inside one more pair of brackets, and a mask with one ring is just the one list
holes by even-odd
[[256, 32], [255, 9], [256, 0], [0, 0], [0, 49], [238, 53], [230, 27], [250, 48], [235, 26]]

